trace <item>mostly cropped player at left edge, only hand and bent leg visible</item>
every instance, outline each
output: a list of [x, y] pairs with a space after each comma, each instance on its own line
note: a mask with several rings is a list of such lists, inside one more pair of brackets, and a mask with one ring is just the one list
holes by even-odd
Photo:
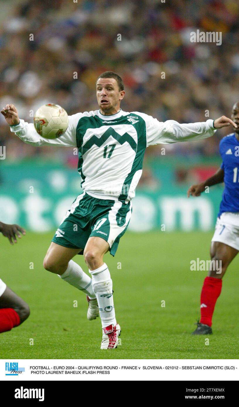
[[[13, 241], [17, 243], [16, 236], [21, 238], [20, 232], [23, 235], [26, 233], [18, 225], [7, 225], [2, 222], [0, 222], [0, 232], [9, 239], [11, 245]], [[28, 304], [0, 279], [0, 333], [22, 324], [29, 314]]]

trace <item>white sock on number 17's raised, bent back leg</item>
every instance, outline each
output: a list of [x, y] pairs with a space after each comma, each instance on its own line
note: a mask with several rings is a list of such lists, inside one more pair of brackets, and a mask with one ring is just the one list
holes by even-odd
[[74, 287], [78, 288], [78, 290], [83, 291], [83, 293], [89, 295], [89, 298], [91, 300], [93, 298], [96, 298], [96, 295], [94, 294], [93, 291], [92, 280], [90, 276], [87, 276], [87, 274], [84, 273], [83, 269], [73, 260], [69, 261], [67, 269], [59, 277], [62, 280], [73, 285]]

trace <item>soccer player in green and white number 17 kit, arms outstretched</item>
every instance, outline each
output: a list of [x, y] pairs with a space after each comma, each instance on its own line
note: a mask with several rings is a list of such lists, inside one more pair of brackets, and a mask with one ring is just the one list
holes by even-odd
[[[88, 319], [100, 313], [101, 349], [116, 348], [120, 325], [115, 318], [113, 288], [104, 254], [115, 255], [126, 232], [132, 199], [142, 173], [143, 155], [152, 144], [200, 140], [216, 129], [233, 125], [222, 116], [203, 123], [165, 123], [140, 112], [124, 112], [124, 84], [119, 75], [107, 71], [96, 81], [99, 109], [69, 117], [65, 134], [54, 140], [42, 138], [34, 125], [20, 120], [14, 105], [2, 109], [10, 129], [34, 146], [78, 147], [78, 172], [83, 193], [73, 202], [56, 231], [44, 259], [44, 267], [87, 294]], [[83, 254], [91, 278], [72, 258]]]

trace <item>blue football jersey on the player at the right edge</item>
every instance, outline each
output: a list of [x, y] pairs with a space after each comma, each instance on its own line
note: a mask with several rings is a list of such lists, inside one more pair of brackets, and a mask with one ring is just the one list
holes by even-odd
[[225, 183], [218, 214], [220, 217], [223, 212], [239, 212], [239, 141], [235, 133], [224, 137], [219, 149]]

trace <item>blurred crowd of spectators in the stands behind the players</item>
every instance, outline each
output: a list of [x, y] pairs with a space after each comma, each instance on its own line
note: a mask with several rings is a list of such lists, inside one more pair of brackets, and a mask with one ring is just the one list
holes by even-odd
[[[0, 26], [0, 106], [13, 103], [31, 123], [29, 112], [44, 103], [58, 103], [69, 115], [96, 110], [96, 79], [113, 70], [124, 81], [125, 111], [179, 123], [230, 117], [239, 100], [238, 21], [238, 0], [9, 1]], [[191, 42], [197, 29], [221, 32], [222, 45]], [[216, 155], [227, 133], [164, 146], [166, 155]], [[0, 144], [8, 160], [72, 164], [72, 149], [24, 144], [3, 116]], [[160, 155], [161, 147], [146, 154]]]

